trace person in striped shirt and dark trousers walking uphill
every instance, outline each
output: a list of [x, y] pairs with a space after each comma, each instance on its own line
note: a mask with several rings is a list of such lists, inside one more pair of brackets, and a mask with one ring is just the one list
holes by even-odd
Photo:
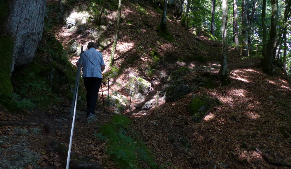
[[[83, 75], [86, 88], [87, 117], [96, 117], [95, 107], [98, 92], [102, 82], [102, 72], [105, 69], [102, 53], [96, 51], [97, 45], [94, 42], [88, 43], [88, 50], [83, 54]], [[77, 61], [79, 66], [79, 60]]]

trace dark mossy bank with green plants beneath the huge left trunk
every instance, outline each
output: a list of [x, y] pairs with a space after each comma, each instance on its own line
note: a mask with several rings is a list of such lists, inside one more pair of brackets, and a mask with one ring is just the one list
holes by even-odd
[[[11, 76], [14, 91], [12, 101], [18, 105], [17, 109], [42, 109], [61, 101], [60, 96], [70, 100], [76, 75], [77, 69], [63, 53], [61, 42], [45, 29], [33, 61], [17, 67]], [[82, 87], [79, 87], [79, 96], [85, 100]]]

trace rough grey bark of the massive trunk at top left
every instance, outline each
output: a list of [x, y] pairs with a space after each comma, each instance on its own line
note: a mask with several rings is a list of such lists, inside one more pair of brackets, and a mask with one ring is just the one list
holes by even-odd
[[14, 67], [31, 62], [41, 40], [45, 0], [9, 1], [9, 11], [5, 29], [13, 39], [10, 75]]

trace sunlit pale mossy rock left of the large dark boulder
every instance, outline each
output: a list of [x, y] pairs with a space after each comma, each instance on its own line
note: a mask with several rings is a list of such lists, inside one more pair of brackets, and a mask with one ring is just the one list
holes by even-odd
[[133, 77], [127, 84], [126, 90], [128, 94], [134, 96], [137, 93], [141, 93], [142, 95], [147, 95], [152, 89], [152, 84], [143, 78], [135, 78]]

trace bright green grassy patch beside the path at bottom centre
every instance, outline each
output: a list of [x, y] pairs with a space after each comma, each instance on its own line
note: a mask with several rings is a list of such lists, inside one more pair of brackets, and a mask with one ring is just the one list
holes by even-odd
[[120, 169], [148, 168], [156, 169], [157, 164], [151, 151], [139, 139], [134, 130], [129, 129], [131, 120], [122, 115], [114, 115], [109, 123], [104, 124], [97, 139], [108, 140], [107, 154]]

